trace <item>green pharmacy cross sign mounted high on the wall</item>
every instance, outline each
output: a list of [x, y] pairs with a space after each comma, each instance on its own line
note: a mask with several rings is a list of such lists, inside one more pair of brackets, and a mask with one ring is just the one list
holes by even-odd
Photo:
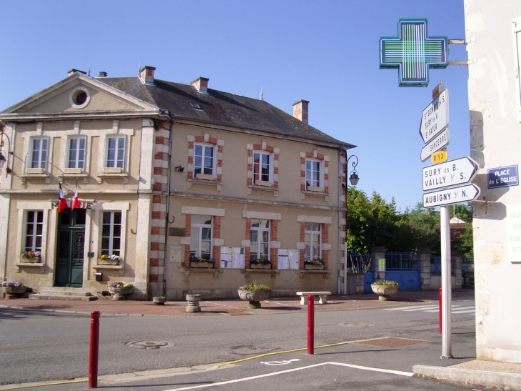
[[427, 36], [427, 19], [400, 19], [398, 36], [380, 37], [380, 69], [398, 68], [402, 86], [428, 86], [429, 68], [446, 68], [446, 36]]

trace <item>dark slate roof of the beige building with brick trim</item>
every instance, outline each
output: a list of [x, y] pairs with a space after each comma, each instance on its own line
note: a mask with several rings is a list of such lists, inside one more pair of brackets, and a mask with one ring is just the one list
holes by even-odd
[[[153, 104], [159, 109], [168, 110], [176, 119], [283, 134], [348, 148], [355, 147], [353, 144], [341, 142], [320, 132], [260, 99], [229, 94], [216, 89], [208, 89], [208, 94], [201, 94], [190, 84], [161, 79], [156, 79], [155, 85], [151, 86], [143, 84], [138, 76], [94, 79]], [[194, 109], [192, 103], [199, 104], [201, 110]]]

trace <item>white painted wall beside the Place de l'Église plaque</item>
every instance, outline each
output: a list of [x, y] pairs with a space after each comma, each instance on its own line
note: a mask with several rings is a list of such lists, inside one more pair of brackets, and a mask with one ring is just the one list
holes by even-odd
[[[514, 22], [517, 22], [515, 24]], [[521, 168], [519, 0], [465, 0], [471, 156], [480, 170], [474, 208], [478, 360], [521, 362], [521, 186], [487, 189], [487, 170]], [[521, 39], [521, 34], [517, 35]], [[510, 229], [509, 229], [510, 225]]]

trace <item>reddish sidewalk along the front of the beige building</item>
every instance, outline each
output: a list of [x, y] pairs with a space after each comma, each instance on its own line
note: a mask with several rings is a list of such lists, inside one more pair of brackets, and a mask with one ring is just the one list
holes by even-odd
[[[459, 289], [452, 291], [452, 300], [473, 300], [474, 290]], [[378, 300], [373, 293], [356, 295], [333, 295], [328, 297], [328, 304], [320, 305], [315, 302], [315, 311], [360, 310], [362, 308], [393, 307], [413, 305], [421, 302], [437, 302], [436, 291], [400, 291], [393, 295], [393, 300], [385, 302]], [[54, 310], [66, 312], [99, 311], [103, 314], [121, 315], [174, 315], [174, 316], [217, 316], [217, 315], [255, 315], [266, 313], [284, 313], [287, 311], [308, 310], [307, 305], [300, 305], [300, 297], [270, 297], [262, 302], [258, 310], [248, 309], [248, 302], [237, 299], [231, 300], [201, 300], [201, 312], [186, 312], [187, 302], [166, 302], [164, 305], [154, 305], [149, 301], [110, 300], [99, 298], [91, 302], [74, 300], [0, 300], [1, 307], [19, 307], [27, 310]]]

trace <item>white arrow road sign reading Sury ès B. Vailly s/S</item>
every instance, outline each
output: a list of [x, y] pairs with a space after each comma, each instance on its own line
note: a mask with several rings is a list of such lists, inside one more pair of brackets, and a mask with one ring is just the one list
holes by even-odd
[[477, 163], [467, 156], [434, 166], [423, 167], [423, 191], [470, 182], [476, 172]]

